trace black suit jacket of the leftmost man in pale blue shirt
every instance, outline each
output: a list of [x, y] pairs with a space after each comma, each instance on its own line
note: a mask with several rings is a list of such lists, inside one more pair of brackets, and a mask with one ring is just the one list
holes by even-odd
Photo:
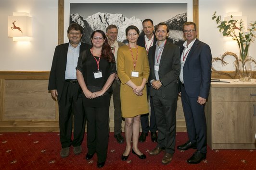
[[[48, 90], [58, 91], [58, 101], [60, 101], [65, 82], [68, 45], [69, 43], [57, 45], [52, 59]], [[81, 42], [79, 53], [90, 47], [91, 45]]]

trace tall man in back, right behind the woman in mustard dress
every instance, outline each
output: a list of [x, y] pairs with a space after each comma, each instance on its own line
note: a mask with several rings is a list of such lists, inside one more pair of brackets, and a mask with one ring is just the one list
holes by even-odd
[[[153, 21], [151, 19], [145, 19], [142, 22], [142, 26], [143, 26], [143, 31], [141, 32], [138, 41], [137, 41], [137, 45], [140, 45], [144, 48], [146, 48], [146, 51], [148, 53], [149, 48], [151, 46], [155, 46], [156, 43], [156, 37], [154, 34], [154, 24]], [[148, 136], [148, 132], [151, 132], [151, 140], [153, 142], [157, 141], [157, 134], [156, 134], [156, 122], [155, 122], [155, 115], [154, 115], [154, 106], [153, 106], [153, 102], [152, 102], [152, 97], [149, 96], [150, 95], [150, 84], [147, 85], [147, 96], [149, 97], [149, 101], [150, 101], [150, 125], [149, 125], [149, 113], [148, 114], [143, 114], [141, 115], [141, 136], [139, 138], [140, 142], [145, 142], [146, 140], [146, 136]]]

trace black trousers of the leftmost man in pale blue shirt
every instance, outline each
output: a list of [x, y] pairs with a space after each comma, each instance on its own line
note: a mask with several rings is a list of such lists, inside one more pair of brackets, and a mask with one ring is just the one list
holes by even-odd
[[[81, 94], [78, 94], [78, 83], [64, 83], [64, 89], [59, 104], [59, 126], [62, 148], [80, 146], [85, 132], [85, 113]], [[72, 141], [72, 124], [74, 116], [74, 139]]]

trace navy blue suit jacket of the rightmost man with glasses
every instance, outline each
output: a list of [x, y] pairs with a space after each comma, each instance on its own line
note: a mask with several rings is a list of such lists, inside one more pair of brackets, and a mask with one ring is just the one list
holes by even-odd
[[[180, 46], [180, 55], [183, 49], [184, 46]], [[210, 46], [196, 39], [183, 67], [184, 87], [190, 97], [207, 99], [211, 85], [211, 67]]]

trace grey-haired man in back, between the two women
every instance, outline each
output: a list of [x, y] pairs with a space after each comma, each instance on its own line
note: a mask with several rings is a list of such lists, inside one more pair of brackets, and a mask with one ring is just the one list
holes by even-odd
[[[115, 25], [109, 25], [106, 28], [106, 36], [108, 37], [108, 44], [111, 46], [112, 53], [115, 56], [115, 63], [117, 60], [117, 50], [120, 46], [125, 45], [122, 42], [116, 41], [118, 29]], [[125, 139], [121, 135], [122, 133], [122, 113], [121, 113], [121, 102], [120, 102], [120, 80], [118, 75], [115, 75], [115, 80], [112, 84], [113, 89], [113, 102], [114, 102], [114, 136], [119, 144], [124, 143]]]

